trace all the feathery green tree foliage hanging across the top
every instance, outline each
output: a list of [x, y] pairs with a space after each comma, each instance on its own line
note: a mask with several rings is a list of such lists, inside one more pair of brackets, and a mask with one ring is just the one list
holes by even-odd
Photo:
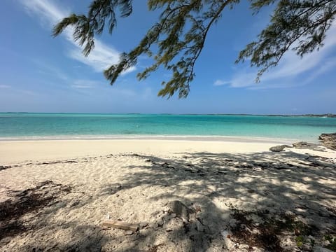
[[[153, 57], [154, 63], [138, 73], [139, 80], [147, 78], [159, 67], [172, 71], [172, 78], [162, 82], [159, 96], [188, 96], [190, 83], [195, 78], [195, 63], [200, 56], [207, 34], [221, 18], [225, 8], [233, 8], [239, 0], [148, 0], [148, 9], [162, 10], [160, 19], [148, 30], [139, 45], [120, 55], [118, 64], [104, 71], [111, 85], [120, 73], [137, 64], [140, 55]], [[293, 48], [298, 55], [318, 50], [323, 45], [325, 31], [336, 14], [336, 1], [328, 0], [250, 0], [253, 13], [265, 6], [274, 6], [270, 24], [261, 31], [258, 41], [246, 45], [237, 62], [251, 59], [262, 73], [278, 64], [284, 52]], [[68, 26], [73, 27], [73, 39], [83, 45], [83, 54], [94, 48], [94, 35], [102, 34], [105, 24], [112, 33], [120, 18], [132, 13], [132, 0], [94, 0], [87, 15], [71, 14], [53, 30], [57, 36]]]

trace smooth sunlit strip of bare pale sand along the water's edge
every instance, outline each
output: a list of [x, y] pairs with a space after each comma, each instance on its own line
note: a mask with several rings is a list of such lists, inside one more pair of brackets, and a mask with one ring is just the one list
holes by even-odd
[[[193, 139], [190, 141], [189, 139]], [[279, 139], [221, 137], [176, 139], [106, 139], [106, 140], [40, 140], [0, 141], [1, 165], [28, 160], [52, 160], [86, 156], [144, 153], [150, 155], [181, 155], [207, 151], [211, 153], [253, 153], [267, 151]], [[204, 140], [205, 139], [205, 140]]]

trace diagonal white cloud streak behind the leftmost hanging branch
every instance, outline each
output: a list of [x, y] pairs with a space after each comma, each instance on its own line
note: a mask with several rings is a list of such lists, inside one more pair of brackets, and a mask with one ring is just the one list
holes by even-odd
[[[42, 18], [43, 22], [48, 22], [48, 29], [50, 29], [50, 32], [51, 27], [70, 14], [69, 10], [57, 6], [52, 0], [21, 0], [20, 2], [31, 15], [35, 15], [40, 19]], [[94, 40], [94, 50], [88, 57], [84, 57], [81, 53], [82, 48], [73, 41], [72, 34], [73, 30], [71, 28], [64, 31], [64, 36], [67, 41], [75, 45], [74, 48], [70, 50], [69, 57], [76, 59], [87, 66], [91, 66], [94, 71], [99, 72], [111, 66], [111, 64], [118, 63], [120, 52], [115, 48], [102, 43], [102, 41], [99, 41], [97, 38]], [[132, 67], [125, 71], [125, 73], [129, 73], [135, 69], [135, 67]]]

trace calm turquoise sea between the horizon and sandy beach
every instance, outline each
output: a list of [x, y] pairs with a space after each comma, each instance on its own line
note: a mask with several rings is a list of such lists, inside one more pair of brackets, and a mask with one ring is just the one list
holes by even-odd
[[113, 136], [235, 136], [316, 141], [336, 118], [225, 115], [0, 113], [0, 139]]

